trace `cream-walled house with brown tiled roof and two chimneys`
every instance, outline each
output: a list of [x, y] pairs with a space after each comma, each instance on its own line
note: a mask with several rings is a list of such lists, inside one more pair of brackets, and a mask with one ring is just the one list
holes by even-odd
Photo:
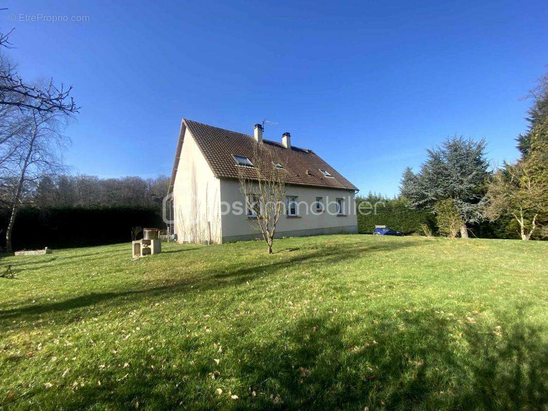
[[312, 150], [183, 119], [169, 184], [170, 229], [179, 242], [225, 243], [260, 238], [250, 224], [238, 169], [253, 172], [254, 147], [267, 145], [283, 158], [287, 206], [277, 237], [357, 233], [358, 191]]

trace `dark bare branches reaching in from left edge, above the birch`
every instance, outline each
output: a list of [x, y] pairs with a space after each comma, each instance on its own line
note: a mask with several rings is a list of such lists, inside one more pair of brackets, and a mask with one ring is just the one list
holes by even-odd
[[[9, 35], [0, 33], [0, 47], [12, 48]], [[37, 113], [77, 113], [71, 96], [72, 85], [55, 85], [53, 79], [41, 84], [27, 84], [19, 76], [17, 66], [0, 58], [0, 105], [18, 107], [21, 111]]]

